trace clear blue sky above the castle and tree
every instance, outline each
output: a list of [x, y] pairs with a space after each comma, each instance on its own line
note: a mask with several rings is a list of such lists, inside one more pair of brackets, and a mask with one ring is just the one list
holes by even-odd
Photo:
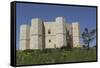
[[[16, 46], [19, 47], [19, 31], [21, 24], [31, 24], [32, 18], [40, 18], [43, 21], [54, 21], [56, 17], [65, 17], [67, 23], [79, 22], [80, 31], [84, 28], [96, 28], [96, 8], [79, 6], [60, 6], [44, 4], [16, 4]], [[96, 44], [96, 39], [91, 46]]]

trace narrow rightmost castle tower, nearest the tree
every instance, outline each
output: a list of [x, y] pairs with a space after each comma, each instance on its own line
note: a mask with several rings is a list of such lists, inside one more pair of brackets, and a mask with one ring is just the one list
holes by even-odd
[[73, 47], [80, 47], [79, 23], [72, 23]]

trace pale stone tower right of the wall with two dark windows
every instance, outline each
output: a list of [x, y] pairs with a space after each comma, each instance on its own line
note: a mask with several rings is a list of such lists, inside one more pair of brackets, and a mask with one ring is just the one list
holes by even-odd
[[63, 17], [57, 17], [56, 23], [56, 47], [60, 48], [62, 46], [67, 46], [65, 19]]

